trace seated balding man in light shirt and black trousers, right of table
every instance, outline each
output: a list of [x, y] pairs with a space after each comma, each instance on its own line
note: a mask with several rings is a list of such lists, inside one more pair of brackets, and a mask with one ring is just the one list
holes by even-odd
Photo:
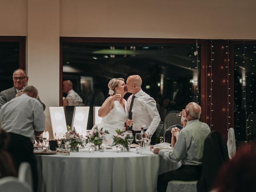
[[190, 102], [182, 111], [187, 120], [186, 127], [180, 130], [173, 150], [154, 150], [155, 154], [160, 154], [165, 159], [182, 163], [180, 168], [158, 176], [158, 192], [165, 192], [171, 180], [194, 181], [200, 178], [204, 140], [210, 133], [209, 126], [199, 121], [200, 114], [201, 107], [195, 102]]

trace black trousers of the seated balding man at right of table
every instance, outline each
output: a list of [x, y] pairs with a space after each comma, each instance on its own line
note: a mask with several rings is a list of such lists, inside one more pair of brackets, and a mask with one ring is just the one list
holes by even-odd
[[166, 192], [169, 181], [195, 181], [199, 180], [202, 172], [202, 166], [182, 165], [180, 168], [168, 171], [158, 176], [157, 190], [158, 192]]

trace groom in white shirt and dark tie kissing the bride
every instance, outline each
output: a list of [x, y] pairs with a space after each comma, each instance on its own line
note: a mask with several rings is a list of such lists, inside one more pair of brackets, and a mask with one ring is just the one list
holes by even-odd
[[151, 143], [156, 143], [156, 128], [160, 122], [160, 116], [156, 108], [156, 101], [141, 89], [142, 79], [138, 75], [131, 75], [126, 80], [126, 88], [132, 95], [127, 100], [127, 107], [130, 113], [126, 124], [132, 125], [132, 132], [135, 135], [140, 133], [142, 125], [145, 125], [144, 132], [152, 134]]

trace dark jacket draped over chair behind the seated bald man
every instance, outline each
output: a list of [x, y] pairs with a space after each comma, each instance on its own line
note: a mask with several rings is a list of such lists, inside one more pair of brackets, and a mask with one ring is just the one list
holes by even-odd
[[228, 148], [219, 132], [212, 131], [204, 140], [202, 175], [197, 182], [198, 192], [212, 190], [212, 184], [222, 164], [229, 160]]

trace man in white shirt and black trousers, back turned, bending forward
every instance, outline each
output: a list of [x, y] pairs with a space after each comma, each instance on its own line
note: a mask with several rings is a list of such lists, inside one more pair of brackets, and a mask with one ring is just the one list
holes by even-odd
[[28, 162], [32, 168], [34, 191], [38, 187], [36, 157], [34, 155], [34, 139], [45, 130], [45, 116], [42, 104], [36, 99], [38, 90], [34, 86], [26, 86], [22, 95], [16, 97], [0, 109], [2, 129], [8, 132], [10, 152], [16, 170], [22, 162]]

